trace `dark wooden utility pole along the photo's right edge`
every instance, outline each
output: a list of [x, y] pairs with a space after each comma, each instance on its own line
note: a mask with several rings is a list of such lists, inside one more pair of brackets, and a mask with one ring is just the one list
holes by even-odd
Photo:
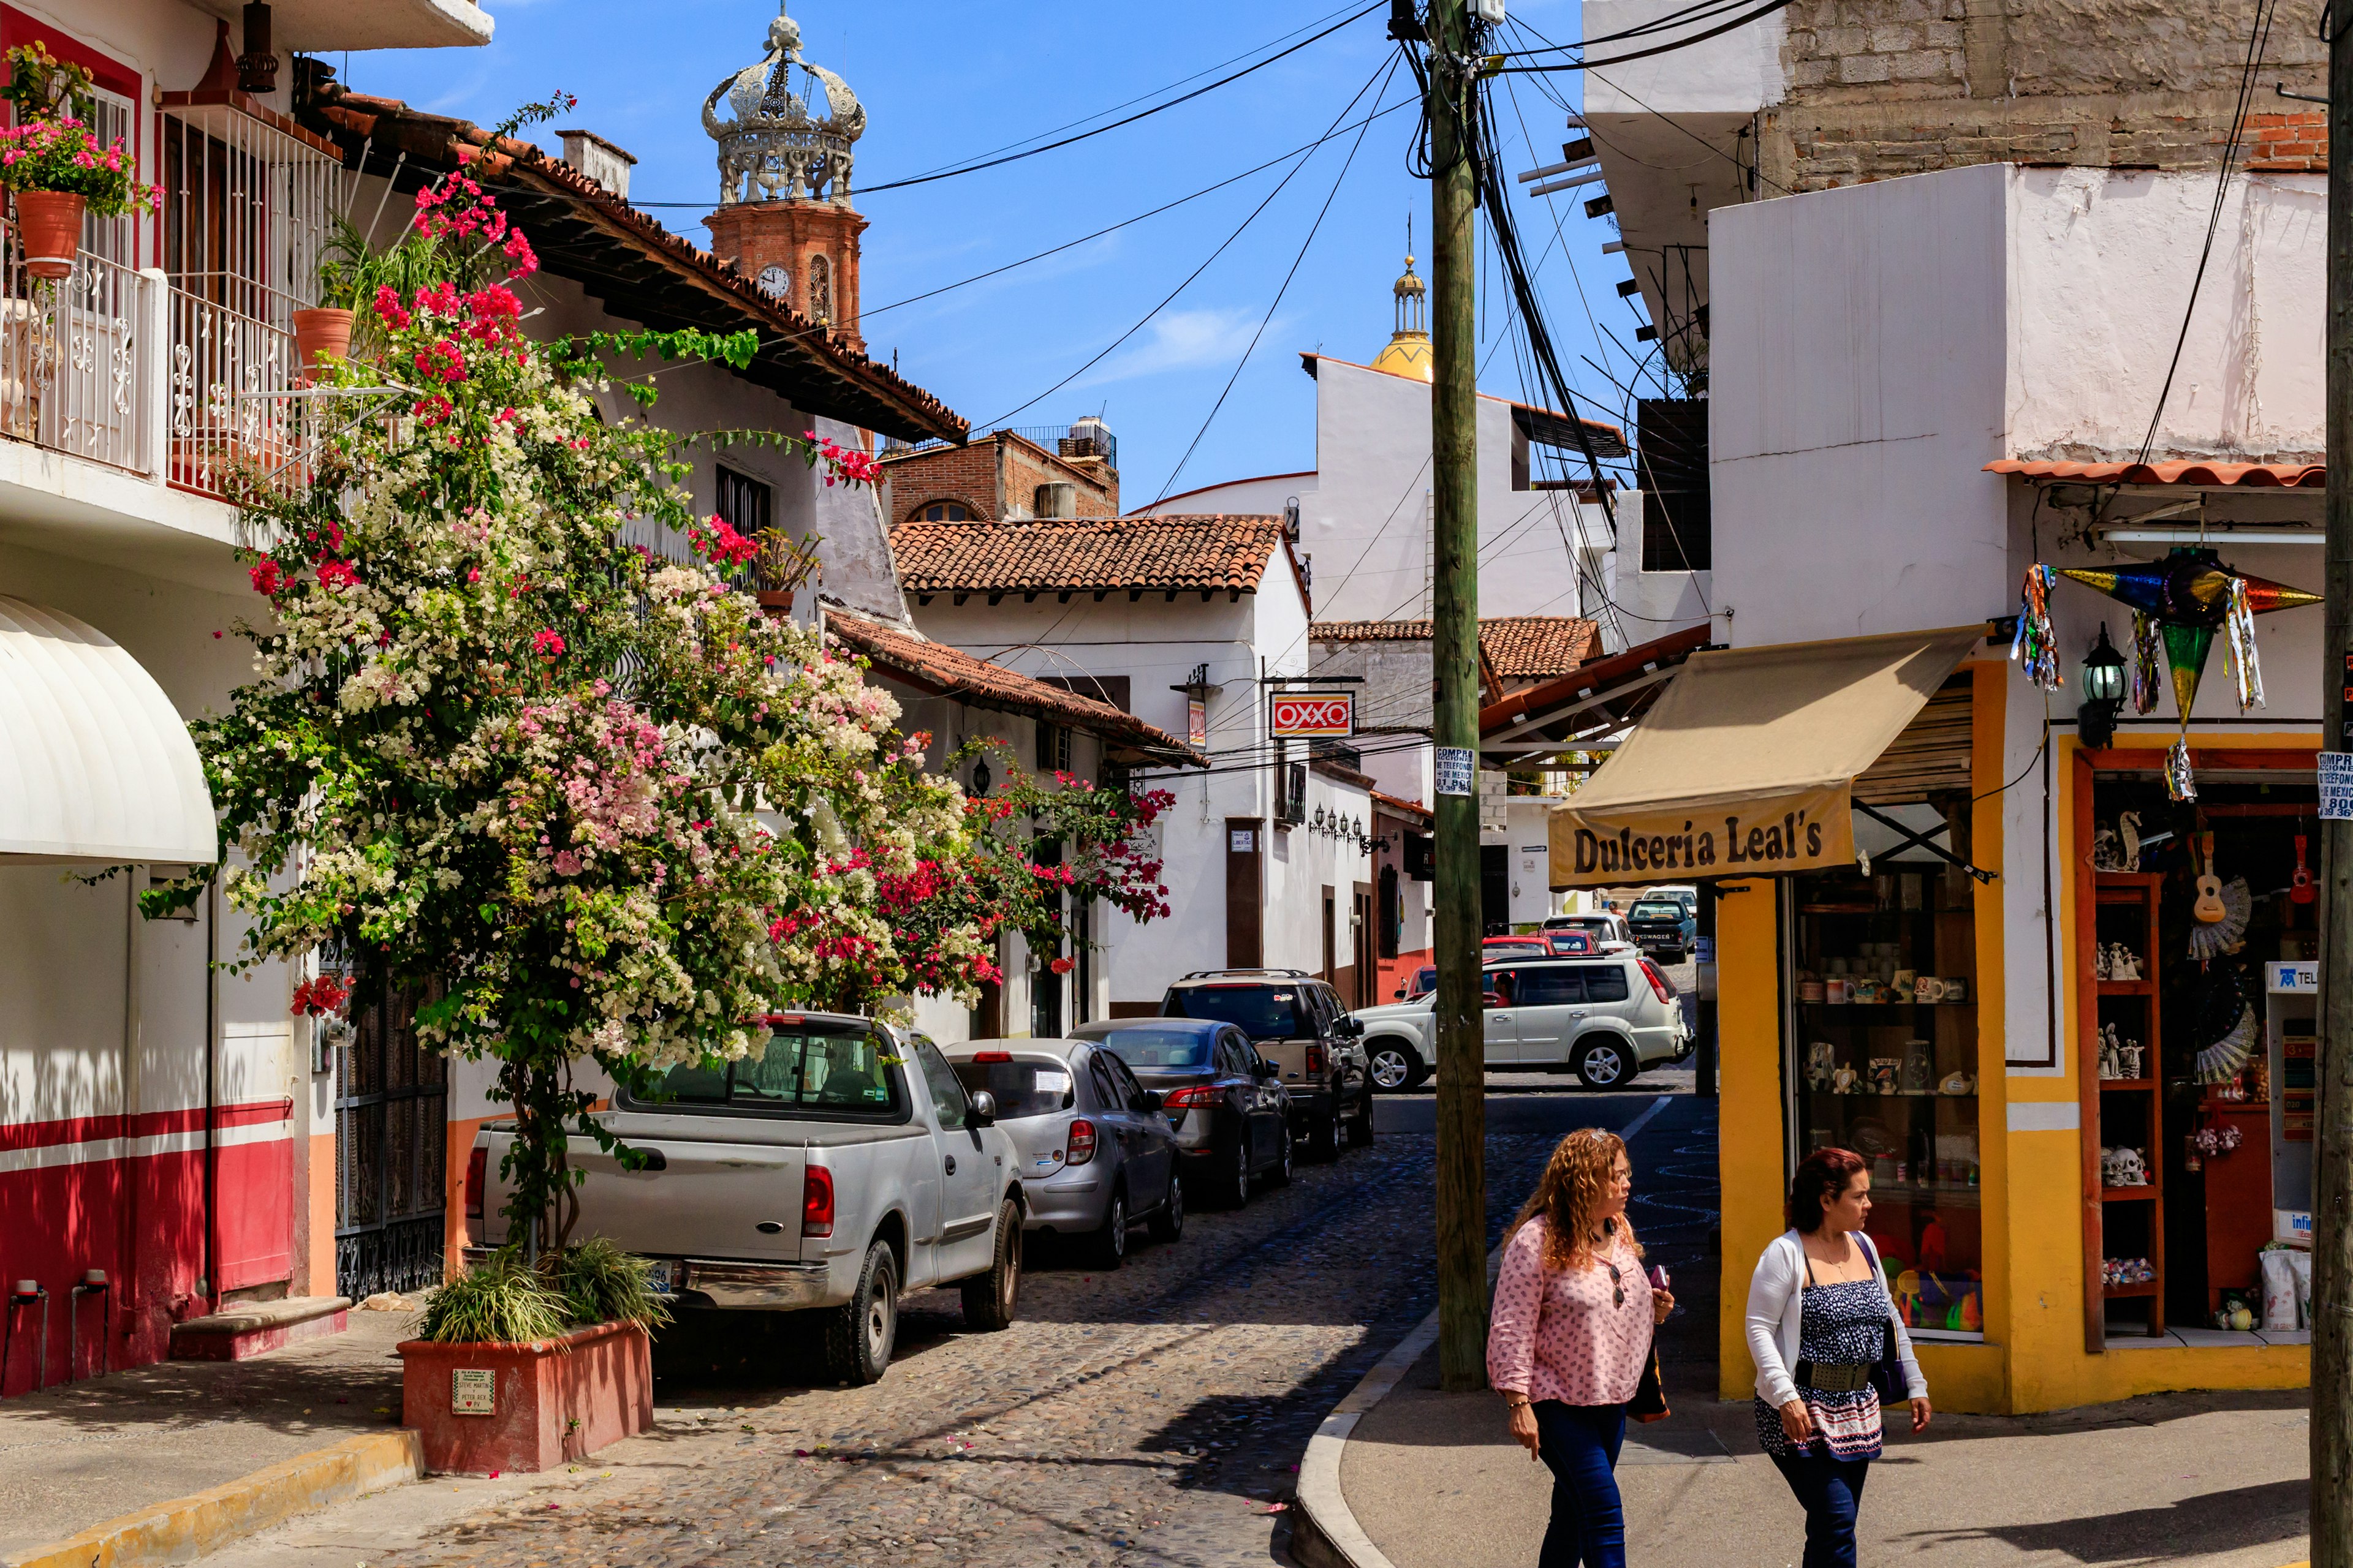
[[[2329, 33], [2327, 635], [2320, 748], [2353, 752], [2353, 16]], [[2353, 823], [2320, 823], [2320, 1143], [2313, 1171], [2313, 1568], [2353, 1568]]]

